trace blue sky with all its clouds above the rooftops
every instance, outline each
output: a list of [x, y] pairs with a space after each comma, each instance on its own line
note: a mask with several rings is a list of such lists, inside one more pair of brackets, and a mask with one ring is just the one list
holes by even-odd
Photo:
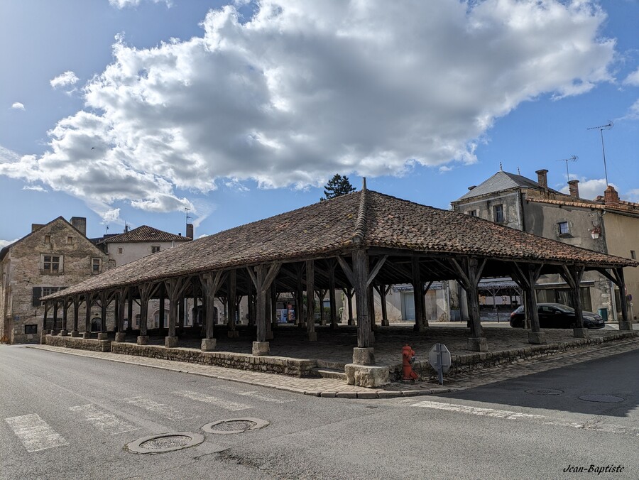
[[434, 207], [503, 169], [639, 201], [639, 1], [0, 4], [0, 246], [32, 223], [196, 236], [334, 173]]

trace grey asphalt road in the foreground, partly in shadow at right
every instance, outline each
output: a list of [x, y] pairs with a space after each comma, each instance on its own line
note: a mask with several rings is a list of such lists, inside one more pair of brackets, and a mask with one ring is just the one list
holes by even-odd
[[[632, 351], [445, 396], [353, 400], [1, 346], [0, 478], [636, 480], [638, 365]], [[623, 400], [579, 398], [593, 395]], [[271, 424], [200, 430], [246, 417]], [[164, 432], [205, 440], [125, 448]]]

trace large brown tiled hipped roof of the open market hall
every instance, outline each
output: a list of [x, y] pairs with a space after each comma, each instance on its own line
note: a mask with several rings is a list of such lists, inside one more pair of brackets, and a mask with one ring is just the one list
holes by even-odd
[[349, 253], [357, 245], [602, 268], [639, 265], [477, 217], [361, 190], [154, 253], [48, 298], [269, 261], [332, 256]]

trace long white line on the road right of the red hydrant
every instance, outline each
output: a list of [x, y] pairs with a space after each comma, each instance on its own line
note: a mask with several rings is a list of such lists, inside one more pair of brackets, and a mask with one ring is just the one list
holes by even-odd
[[[468, 405], [456, 405], [454, 403], [431, 402], [425, 400], [410, 405], [411, 407], [435, 408], [437, 410], [448, 410], [449, 412], [468, 413], [470, 415], [480, 415], [482, 417], [505, 418], [506, 420], [539, 420], [543, 425], [553, 425], [556, 427], [572, 427], [581, 430], [596, 430], [598, 432], [616, 433], [621, 435], [632, 435], [639, 437], [638, 427], [625, 427], [612, 423], [603, 423], [601, 419], [576, 422], [564, 420], [562, 418], [552, 419], [546, 415], [536, 415], [532, 413], [519, 413], [510, 410], [496, 410], [495, 408], [470, 407]], [[591, 415], [589, 415], [591, 416]]]

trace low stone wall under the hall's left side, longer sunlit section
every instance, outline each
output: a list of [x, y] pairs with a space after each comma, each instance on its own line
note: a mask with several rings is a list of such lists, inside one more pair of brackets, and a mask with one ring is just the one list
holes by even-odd
[[154, 359], [186, 361], [190, 364], [224, 366], [229, 369], [253, 370], [279, 373], [296, 377], [312, 377], [317, 361], [290, 359], [283, 356], [253, 356], [227, 351], [201, 351], [198, 349], [167, 349], [159, 345], [137, 345], [126, 342], [112, 342], [114, 354], [149, 356]]

